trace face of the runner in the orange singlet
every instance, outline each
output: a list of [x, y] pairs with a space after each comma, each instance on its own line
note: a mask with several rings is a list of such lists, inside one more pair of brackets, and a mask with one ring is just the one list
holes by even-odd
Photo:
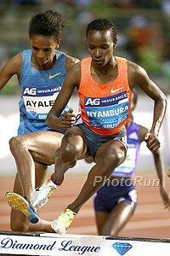
[[88, 52], [97, 67], [104, 67], [112, 60], [114, 42], [111, 38], [111, 31], [88, 31]]

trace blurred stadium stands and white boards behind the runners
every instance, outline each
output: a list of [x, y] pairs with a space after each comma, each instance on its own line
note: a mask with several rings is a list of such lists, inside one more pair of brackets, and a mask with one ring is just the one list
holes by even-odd
[[[53, 9], [64, 16], [68, 26], [62, 34], [60, 49], [82, 59], [88, 56], [86, 26], [95, 18], [116, 23], [116, 55], [127, 57], [144, 67], [156, 84], [170, 94], [170, 0], [0, 0], [0, 67], [13, 55], [30, 48], [28, 23], [33, 15]], [[8, 139], [16, 135], [19, 124], [20, 87], [16, 77], [0, 91], [0, 176], [13, 175], [15, 165]], [[72, 99], [77, 108], [77, 95]], [[139, 90], [135, 120], [150, 128], [152, 102]], [[170, 116], [167, 109], [161, 128], [161, 150], [170, 165]], [[139, 170], [154, 168], [149, 150], [143, 145]], [[82, 163], [78, 163], [81, 165]], [[77, 166], [78, 166], [77, 165]], [[84, 163], [83, 163], [84, 166]], [[79, 167], [78, 167], [79, 168]], [[87, 168], [85, 167], [87, 170]]]

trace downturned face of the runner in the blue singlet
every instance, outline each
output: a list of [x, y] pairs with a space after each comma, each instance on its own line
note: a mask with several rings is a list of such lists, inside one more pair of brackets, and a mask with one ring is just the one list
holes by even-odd
[[59, 42], [55, 42], [53, 37], [45, 37], [42, 35], [31, 36], [32, 55], [40, 65], [45, 65], [54, 58], [54, 49], [59, 46]]

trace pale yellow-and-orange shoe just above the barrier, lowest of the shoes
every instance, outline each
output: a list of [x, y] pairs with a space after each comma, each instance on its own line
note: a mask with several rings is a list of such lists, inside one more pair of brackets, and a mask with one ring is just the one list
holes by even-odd
[[51, 228], [60, 235], [65, 235], [68, 227], [76, 217], [77, 213], [72, 212], [69, 208], [65, 208], [58, 218], [51, 223]]

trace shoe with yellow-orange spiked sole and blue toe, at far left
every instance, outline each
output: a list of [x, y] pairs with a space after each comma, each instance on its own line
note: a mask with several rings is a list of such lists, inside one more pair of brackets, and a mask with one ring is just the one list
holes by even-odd
[[31, 202], [26, 197], [14, 192], [7, 192], [5, 197], [8, 201], [9, 207], [23, 212], [32, 224], [36, 224], [39, 221], [36, 209], [31, 205]]

